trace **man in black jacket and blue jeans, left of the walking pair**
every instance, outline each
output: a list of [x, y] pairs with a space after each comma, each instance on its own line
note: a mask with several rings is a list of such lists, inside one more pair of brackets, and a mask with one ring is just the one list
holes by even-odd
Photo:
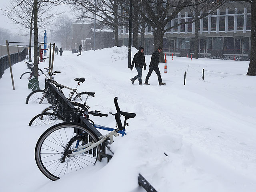
[[145, 55], [144, 55], [144, 47], [140, 46], [138, 53], [136, 53], [132, 60], [132, 66], [131, 70], [133, 70], [133, 66], [135, 63], [135, 68], [138, 72], [138, 75], [136, 75], [134, 78], [131, 78], [132, 84], [134, 85], [134, 81], [139, 78], [139, 85], [142, 85], [142, 68], [144, 66], [144, 70], [146, 70], [146, 62], [145, 62]]

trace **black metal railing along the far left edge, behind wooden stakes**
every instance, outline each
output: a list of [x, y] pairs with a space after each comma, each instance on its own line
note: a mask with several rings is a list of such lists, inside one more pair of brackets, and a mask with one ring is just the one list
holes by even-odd
[[[22, 52], [20, 53], [13, 53], [10, 54], [11, 58], [11, 64], [18, 63], [26, 58], [28, 50], [24, 48]], [[19, 60], [20, 57], [20, 60]], [[9, 60], [8, 60], [8, 55], [0, 57], [0, 78], [2, 78], [2, 75], [4, 74], [4, 70], [8, 69], [10, 67], [9, 65]]]

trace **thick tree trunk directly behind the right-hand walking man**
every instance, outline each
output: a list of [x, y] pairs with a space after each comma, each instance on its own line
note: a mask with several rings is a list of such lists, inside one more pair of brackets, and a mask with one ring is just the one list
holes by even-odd
[[154, 50], [157, 50], [158, 46], [163, 48], [163, 51], [160, 53], [159, 62], [164, 63], [164, 30], [160, 27], [154, 29]]

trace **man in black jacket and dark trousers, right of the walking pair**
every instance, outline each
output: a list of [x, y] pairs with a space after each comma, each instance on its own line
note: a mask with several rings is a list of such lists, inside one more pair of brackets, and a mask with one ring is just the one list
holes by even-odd
[[159, 85], [165, 85], [165, 83], [162, 82], [161, 73], [160, 73], [160, 70], [158, 68], [159, 55], [160, 55], [160, 52], [162, 52], [162, 50], [163, 50], [162, 47], [158, 47], [157, 50], [151, 56], [149, 71], [148, 71], [148, 74], [146, 76], [146, 80], [145, 80], [145, 83], [144, 83], [145, 85], [149, 85], [148, 84], [148, 79], [149, 79], [149, 77], [150, 77], [150, 75], [152, 74], [153, 71], [155, 71], [156, 74], [157, 74]]

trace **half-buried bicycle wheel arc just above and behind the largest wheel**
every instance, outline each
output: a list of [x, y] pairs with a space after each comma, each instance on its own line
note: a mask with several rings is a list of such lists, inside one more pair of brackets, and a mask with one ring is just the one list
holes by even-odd
[[29, 122], [29, 126], [54, 125], [64, 122], [64, 118], [56, 113], [40, 113]]

